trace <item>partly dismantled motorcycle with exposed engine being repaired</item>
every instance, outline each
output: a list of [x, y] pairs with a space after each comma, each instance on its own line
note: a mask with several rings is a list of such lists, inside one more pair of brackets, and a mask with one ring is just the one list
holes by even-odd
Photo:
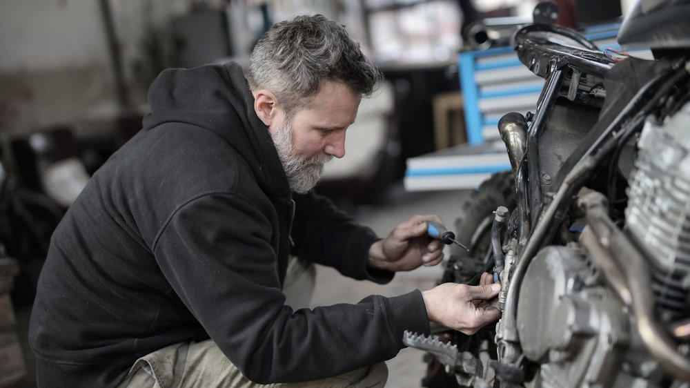
[[545, 79], [535, 113], [498, 129], [511, 171], [456, 222], [471, 255], [440, 282], [500, 280], [502, 318], [474, 336], [406, 333], [425, 387], [690, 386], [690, 2], [638, 2], [602, 52], [548, 23], [516, 30]]

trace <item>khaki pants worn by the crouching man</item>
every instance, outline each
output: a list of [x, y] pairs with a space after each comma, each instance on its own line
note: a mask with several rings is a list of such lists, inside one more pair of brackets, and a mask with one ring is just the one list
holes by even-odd
[[[315, 284], [313, 264], [290, 260], [284, 292], [293, 309], [307, 307]], [[371, 365], [339, 376], [306, 382], [269, 385], [251, 382], [240, 373], [212, 340], [180, 342], [139, 358], [118, 388], [261, 388], [261, 387], [384, 387], [386, 364]]]

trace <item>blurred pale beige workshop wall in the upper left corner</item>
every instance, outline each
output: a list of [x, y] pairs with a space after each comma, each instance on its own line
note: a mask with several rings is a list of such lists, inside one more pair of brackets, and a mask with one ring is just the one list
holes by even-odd
[[[184, 0], [111, 0], [125, 78], [144, 102], [132, 68], [141, 39], [188, 9]], [[0, 133], [21, 135], [58, 123], [107, 126], [119, 112], [99, 1], [0, 0]]]

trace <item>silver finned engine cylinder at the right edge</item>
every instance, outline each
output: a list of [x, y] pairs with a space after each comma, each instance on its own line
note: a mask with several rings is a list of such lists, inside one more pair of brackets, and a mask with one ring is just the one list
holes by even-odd
[[690, 104], [663, 123], [648, 120], [626, 209], [627, 226], [653, 264], [662, 319], [690, 316]]

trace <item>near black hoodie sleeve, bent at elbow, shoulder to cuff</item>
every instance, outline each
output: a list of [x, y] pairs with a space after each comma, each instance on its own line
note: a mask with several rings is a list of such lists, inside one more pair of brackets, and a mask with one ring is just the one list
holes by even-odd
[[420, 291], [293, 311], [280, 291], [273, 238], [250, 200], [209, 194], [179, 208], [154, 246], [179, 298], [250, 380], [336, 376], [395, 356], [404, 330], [428, 333]]

